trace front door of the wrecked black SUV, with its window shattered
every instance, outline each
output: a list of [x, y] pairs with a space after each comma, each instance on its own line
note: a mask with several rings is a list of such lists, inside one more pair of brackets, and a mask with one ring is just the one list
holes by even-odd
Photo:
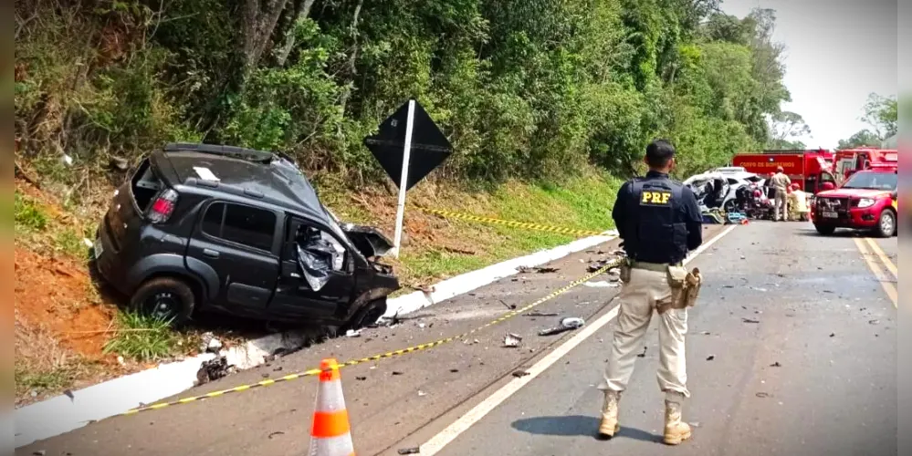
[[353, 272], [351, 254], [329, 230], [291, 217], [270, 311], [315, 322], [341, 318], [351, 304]]

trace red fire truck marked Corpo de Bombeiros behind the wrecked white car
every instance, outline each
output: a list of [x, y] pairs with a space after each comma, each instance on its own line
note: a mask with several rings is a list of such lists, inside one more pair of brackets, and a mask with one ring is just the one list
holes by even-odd
[[744, 167], [745, 171], [755, 172], [763, 178], [781, 166], [803, 192], [812, 194], [823, 190], [825, 182], [835, 185], [833, 152], [825, 149], [744, 152], [732, 158], [732, 165]]

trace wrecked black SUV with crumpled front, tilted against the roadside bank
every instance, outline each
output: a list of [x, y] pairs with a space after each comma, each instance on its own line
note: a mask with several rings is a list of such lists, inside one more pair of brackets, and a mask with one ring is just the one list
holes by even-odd
[[357, 327], [399, 288], [377, 261], [391, 247], [339, 223], [284, 155], [168, 144], [114, 192], [94, 254], [131, 308], [176, 325], [211, 310]]

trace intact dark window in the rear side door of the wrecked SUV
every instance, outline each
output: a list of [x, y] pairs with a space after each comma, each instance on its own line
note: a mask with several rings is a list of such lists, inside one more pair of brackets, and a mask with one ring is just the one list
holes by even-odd
[[240, 204], [215, 202], [203, 216], [203, 233], [269, 251], [276, 233], [276, 213]]

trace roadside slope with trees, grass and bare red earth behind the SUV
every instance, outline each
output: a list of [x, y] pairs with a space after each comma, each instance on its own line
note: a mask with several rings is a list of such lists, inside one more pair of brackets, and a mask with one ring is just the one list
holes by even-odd
[[409, 193], [408, 292], [572, 239], [417, 207], [610, 229], [649, 140], [676, 143], [684, 176], [806, 130], [780, 109], [775, 13], [727, 16], [718, 0], [34, 0], [15, 14], [17, 404], [196, 349], [89, 276], [121, 165], [165, 141], [287, 152], [342, 219], [392, 233], [394, 186], [362, 139], [418, 99], [455, 153]]

